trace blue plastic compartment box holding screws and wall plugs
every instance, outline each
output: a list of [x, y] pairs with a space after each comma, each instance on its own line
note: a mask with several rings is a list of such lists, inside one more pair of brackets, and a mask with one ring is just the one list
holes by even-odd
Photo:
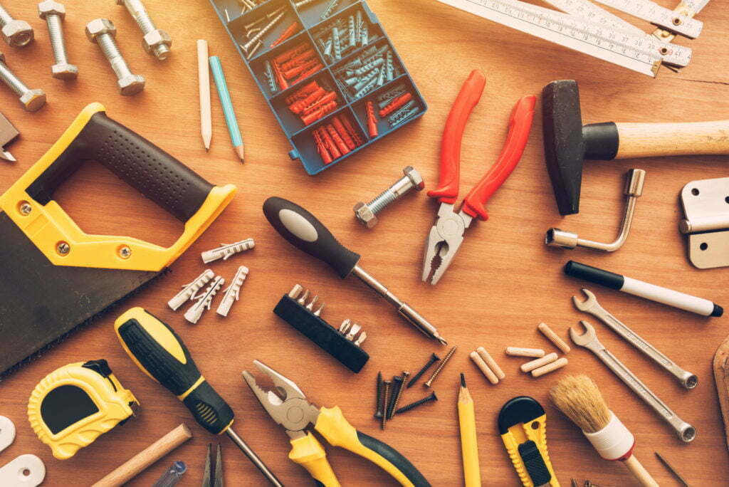
[[[281, 129], [289, 139], [293, 147], [289, 156], [293, 160], [299, 159], [308, 174], [319, 174], [340, 163], [381, 137], [413, 122], [426, 112], [427, 105], [418, 91], [418, 87], [405, 69], [377, 16], [370, 10], [366, 2], [357, 0], [210, 1], [230, 38], [233, 39], [243, 62], [256, 80], [268, 106], [276, 115], [278, 124], [281, 125]], [[247, 6], [243, 7], [246, 4]], [[256, 29], [265, 28], [275, 19], [278, 21], [261, 36], [259, 47], [256, 49], [249, 47], [247, 52], [243, 50], [243, 45], [257, 34], [260, 35], [261, 31]], [[354, 30], [351, 27], [354, 25], [353, 19], [357, 20], [355, 30], [359, 37], [354, 36]], [[276, 42], [276, 39], [294, 23], [298, 23], [296, 33], [280, 44], [271, 47], [271, 44]], [[337, 28], [337, 30], [334, 31], [333, 28]], [[338, 39], [334, 39], [334, 32], [338, 33]], [[246, 35], [247, 33], [250, 34]], [[277, 90], [272, 90], [269, 80], [272, 72], [270, 71], [271, 63], [274, 59], [280, 58], [282, 54], [291, 52], [292, 48], [302, 46], [302, 44], [306, 44], [307, 49], [313, 47], [313, 55], [319, 61], [318, 63], [312, 61], [313, 66], [315, 68], [321, 66], [321, 69], [311, 72], [301, 79], [295, 79], [295, 82], [288, 87], [281, 86]], [[382, 61], [375, 59], [375, 61], [368, 62], [373, 59], [373, 52], [381, 57]], [[364, 66], [362, 61], [364, 61]], [[304, 71], [303, 74], [306, 72]], [[367, 78], [368, 75], [369, 78]], [[361, 78], [358, 79], [357, 76], [361, 76]], [[327, 92], [335, 92], [335, 99], [338, 103], [333, 112], [328, 112], [323, 118], [306, 125], [302, 117], [289, 109], [286, 99], [290, 100], [294, 93], [313, 81], [324, 87]], [[363, 83], [363, 88], [360, 88], [360, 82]], [[276, 85], [273, 86], [276, 87]], [[388, 103], [387, 98], [383, 98], [383, 96], [402, 92], [410, 93], [412, 100], [404, 109], [400, 110], [399, 114], [393, 112], [383, 117], [377, 117], [378, 135], [371, 137], [367, 123], [367, 101], [373, 101], [375, 112], [379, 112], [381, 107]], [[392, 118], [393, 115], [394, 118]], [[405, 117], [403, 118], [402, 115]], [[321, 128], [331, 126], [335, 117], [338, 120], [348, 119], [352, 122], [351, 128], [359, 133], [362, 145], [340, 157], [333, 158], [331, 163], [325, 164], [317, 149], [314, 133], [315, 131], [321, 133]]]

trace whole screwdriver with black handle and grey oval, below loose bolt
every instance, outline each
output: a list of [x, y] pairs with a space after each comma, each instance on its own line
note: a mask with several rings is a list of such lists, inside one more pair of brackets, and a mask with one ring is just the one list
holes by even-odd
[[378, 295], [397, 308], [397, 312], [425, 335], [445, 345], [448, 342], [440, 336], [438, 330], [417, 311], [392, 294], [377, 279], [359, 267], [359, 254], [352, 252], [340, 244], [334, 235], [309, 213], [296, 203], [284, 198], [268, 198], [263, 203], [263, 214], [268, 222], [281, 234], [289, 244], [303, 250], [312, 257], [327, 263], [340, 278], [350, 274], [367, 284]]

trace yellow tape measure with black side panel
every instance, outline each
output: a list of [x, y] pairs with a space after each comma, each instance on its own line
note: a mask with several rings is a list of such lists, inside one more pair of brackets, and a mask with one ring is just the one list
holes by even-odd
[[139, 410], [139, 401], [106, 360], [65, 365], [38, 383], [28, 401], [28, 420], [55, 458], [74, 456]]

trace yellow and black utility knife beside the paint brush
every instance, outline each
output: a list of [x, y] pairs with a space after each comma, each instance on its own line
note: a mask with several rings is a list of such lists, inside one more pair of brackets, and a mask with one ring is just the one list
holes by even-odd
[[515, 397], [499, 413], [501, 435], [524, 487], [559, 487], [547, 450], [547, 414], [527, 396]]

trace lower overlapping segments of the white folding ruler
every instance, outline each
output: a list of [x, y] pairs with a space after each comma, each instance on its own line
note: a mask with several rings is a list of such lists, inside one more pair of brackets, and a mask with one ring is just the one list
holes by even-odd
[[690, 48], [650, 36], [587, 0], [547, 0], [574, 15], [520, 0], [437, 1], [651, 77], [661, 63], [683, 67], [691, 60]]

